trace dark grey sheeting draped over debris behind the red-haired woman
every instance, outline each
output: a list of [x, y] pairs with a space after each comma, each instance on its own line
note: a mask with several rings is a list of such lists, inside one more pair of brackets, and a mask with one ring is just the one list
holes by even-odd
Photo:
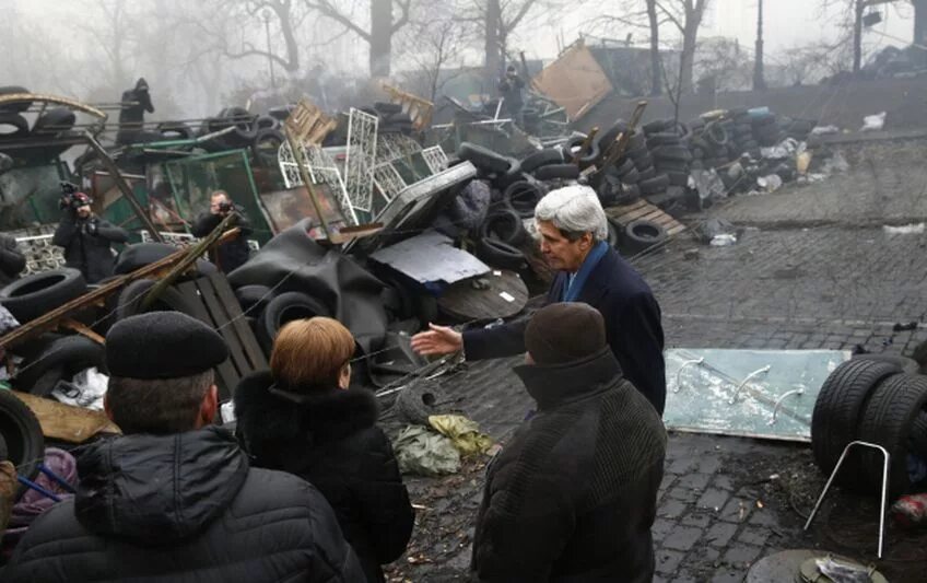
[[384, 284], [354, 260], [313, 241], [310, 219], [283, 231], [248, 263], [228, 275], [233, 288], [268, 285], [277, 293], [312, 295], [351, 330], [365, 353], [377, 350], [386, 335]]

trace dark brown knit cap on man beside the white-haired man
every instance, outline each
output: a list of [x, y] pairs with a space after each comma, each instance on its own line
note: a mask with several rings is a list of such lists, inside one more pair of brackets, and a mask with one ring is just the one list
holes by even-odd
[[525, 346], [537, 364], [563, 364], [591, 357], [607, 345], [606, 323], [595, 307], [558, 303], [537, 312], [525, 329]]

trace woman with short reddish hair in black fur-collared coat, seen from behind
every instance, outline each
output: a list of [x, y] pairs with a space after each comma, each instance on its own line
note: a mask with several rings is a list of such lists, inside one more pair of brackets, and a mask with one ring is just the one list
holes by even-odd
[[338, 320], [291, 322], [270, 371], [235, 392], [237, 430], [260, 467], [312, 482], [335, 509], [368, 582], [406, 551], [414, 513], [392, 447], [376, 427], [376, 399], [348, 389], [354, 338]]

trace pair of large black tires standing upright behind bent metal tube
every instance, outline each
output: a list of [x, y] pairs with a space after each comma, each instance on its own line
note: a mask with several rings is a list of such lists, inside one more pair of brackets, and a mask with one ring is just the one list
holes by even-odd
[[[814, 460], [825, 475], [836, 467], [853, 441], [883, 447], [890, 455], [889, 497], [915, 487], [908, 471], [927, 463], [927, 376], [916, 362], [901, 357], [865, 354], [837, 366], [824, 382], [811, 420]], [[864, 494], [879, 494], [882, 454], [850, 448], [836, 482]], [[923, 478], [923, 477], [922, 477]]]

